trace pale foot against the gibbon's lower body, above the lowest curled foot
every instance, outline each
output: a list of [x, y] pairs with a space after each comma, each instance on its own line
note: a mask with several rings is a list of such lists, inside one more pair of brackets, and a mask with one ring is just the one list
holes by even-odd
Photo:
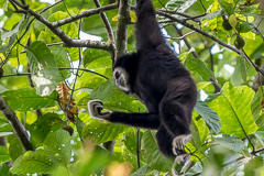
[[178, 135], [173, 140], [173, 153], [177, 156], [185, 153], [185, 144], [190, 141], [191, 134]]

